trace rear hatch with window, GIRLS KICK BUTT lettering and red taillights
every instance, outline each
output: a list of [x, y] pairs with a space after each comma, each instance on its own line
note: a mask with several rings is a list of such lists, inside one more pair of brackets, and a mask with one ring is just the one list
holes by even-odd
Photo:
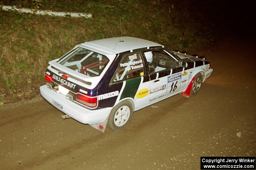
[[94, 88], [110, 64], [108, 57], [76, 47], [49, 64], [45, 74], [48, 88], [83, 106], [97, 107]]

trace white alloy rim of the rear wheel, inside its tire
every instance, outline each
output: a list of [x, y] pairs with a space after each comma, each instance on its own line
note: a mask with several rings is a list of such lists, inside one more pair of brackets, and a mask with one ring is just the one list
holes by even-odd
[[126, 124], [130, 117], [130, 108], [128, 106], [121, 106], [114, 115], [114, 124], [118, 127]]

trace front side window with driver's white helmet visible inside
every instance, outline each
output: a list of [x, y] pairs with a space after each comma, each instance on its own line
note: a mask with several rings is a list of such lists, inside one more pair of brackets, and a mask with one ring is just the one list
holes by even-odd
[[156, 73], [162, 70], [180, 67], [179, 61], [165, 50], [149, 51], [144, 53], [149, 73]]

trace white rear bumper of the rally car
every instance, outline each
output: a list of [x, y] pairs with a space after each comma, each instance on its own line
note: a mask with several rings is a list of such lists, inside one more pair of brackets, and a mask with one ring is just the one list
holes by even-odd
[[[40, 93], [52, 106], [83, 124], [95, 124], [105, 121], [112, 109], [111, 107], [97, 110], [86, 109], [47, 88], [46, 85], [40, 87]], [[56, 103], [58, 103], [58, 106]]]

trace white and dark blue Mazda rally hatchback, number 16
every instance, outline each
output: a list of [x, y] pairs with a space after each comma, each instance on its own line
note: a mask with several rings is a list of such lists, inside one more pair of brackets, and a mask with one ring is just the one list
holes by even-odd
[[49, 62], [42, 97], [83, 124], [105, 131], [125, 127], [133, 111], [176, 94], [198, 93], [210, 62], [133, 37], [76, 45]]

